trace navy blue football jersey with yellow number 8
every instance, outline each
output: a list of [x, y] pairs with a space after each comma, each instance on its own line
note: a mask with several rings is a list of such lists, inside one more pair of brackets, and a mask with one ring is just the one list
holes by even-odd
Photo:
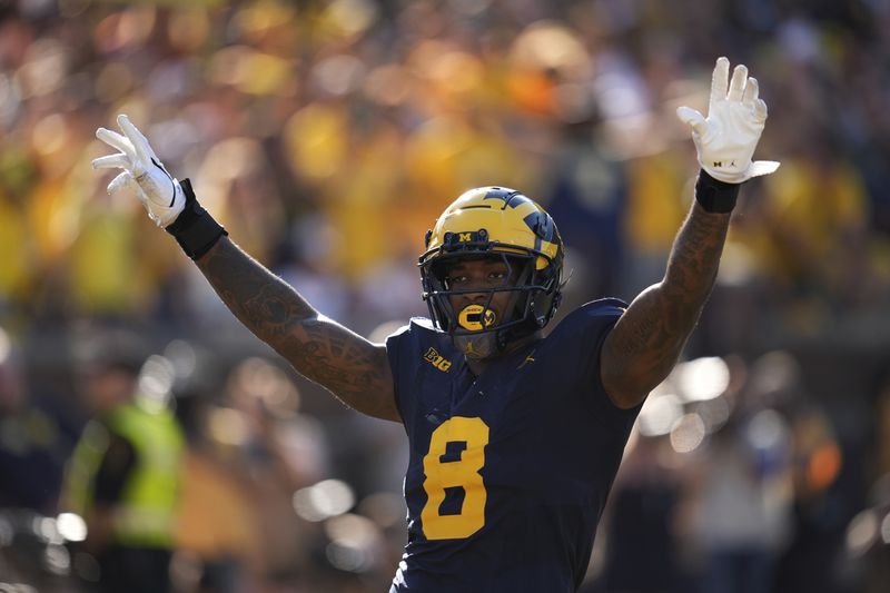
[[637, 408], [600, 380], [615, 299], [474, 377], [426, 319], [387, 339], [409, 441], [408, 542], [390, 593], [577, 589]]

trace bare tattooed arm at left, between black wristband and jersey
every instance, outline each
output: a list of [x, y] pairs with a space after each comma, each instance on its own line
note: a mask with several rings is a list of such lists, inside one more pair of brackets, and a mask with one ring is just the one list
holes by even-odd
[[359, 412], [398, 419], [386, 348], [320, 315], [226, 237], [198, 268], [231, 313], [300, 375]]

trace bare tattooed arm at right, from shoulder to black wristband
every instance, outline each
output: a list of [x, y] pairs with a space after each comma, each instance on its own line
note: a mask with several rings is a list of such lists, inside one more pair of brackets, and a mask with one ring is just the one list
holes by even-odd
[[623, 407], [642, 402], [676, 364], [716, 278], [729, 214], [693, 204], [664, 279], [634, 299], [603, 348], [603, 383]]

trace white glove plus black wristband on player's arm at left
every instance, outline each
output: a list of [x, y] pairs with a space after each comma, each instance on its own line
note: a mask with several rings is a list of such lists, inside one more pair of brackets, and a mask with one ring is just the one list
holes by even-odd
[[186, 254], [197, 259], [206, 254], [222, 235], [228, 235], [195, 199], [191, 184], [175, 179], [151, 150], [127, 116], [118, 116], [123, 135], [106, 128], [96, 130], [96, 137], [119, 150], [116, 155], [92, 161], [95, 169], [123, 169], [108, 184], [108, 192], [123, 187], [134, 190], [156, 225], [172, 235]]

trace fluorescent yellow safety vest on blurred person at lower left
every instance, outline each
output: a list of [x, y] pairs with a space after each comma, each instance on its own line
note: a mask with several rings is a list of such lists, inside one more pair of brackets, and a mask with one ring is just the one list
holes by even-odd
[[111, 434], [125, 438], [135, 449], [134, 467], [112, 510], [115, 542], [139, 547], [171, 546], [185, 439], [166, 408], [125, 404], [87, 424], [66, 475], [68, 510], [89, 517], [96, 475]]

